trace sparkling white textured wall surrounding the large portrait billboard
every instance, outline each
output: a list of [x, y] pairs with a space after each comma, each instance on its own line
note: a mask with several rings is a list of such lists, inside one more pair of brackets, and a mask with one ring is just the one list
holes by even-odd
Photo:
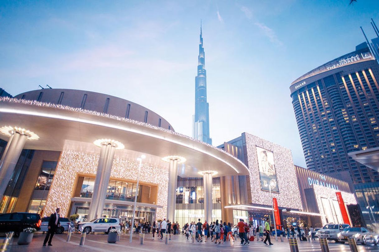
[[302, 210], [300, 191], [291, 151], [273, 142], [250, 135], [249, 133], [245, 133], [245, 137], [252, 203], [270, 206], [272, 201], [270, 193], [261, 190], [256, 150], [256, 146], [258, 146], [274, 153], [279, 193], [273, 193], [273, 197], [277, 198], [279, 207]]

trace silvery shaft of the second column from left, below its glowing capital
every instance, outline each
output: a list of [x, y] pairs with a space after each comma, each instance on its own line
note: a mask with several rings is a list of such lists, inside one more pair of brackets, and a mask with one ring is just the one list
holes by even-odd
[[109, 178], [116, 147], [111, 143], [103, 144], [100, 150], [99, 164], [92, 193], [91, 204], [89, 205], [88, 220], [102, 217], [106, 190], [108, 189]]

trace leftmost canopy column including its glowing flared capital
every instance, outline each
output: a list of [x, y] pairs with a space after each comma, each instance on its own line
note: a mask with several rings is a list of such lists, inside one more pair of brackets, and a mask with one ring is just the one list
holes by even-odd
[[0, 199], [2, 199], [25, 142], [28, 138], [36, 140], [39, 137], [31, 131], [19, 127], [2, 127], [0, 132], [10, 137], [0, 160]]

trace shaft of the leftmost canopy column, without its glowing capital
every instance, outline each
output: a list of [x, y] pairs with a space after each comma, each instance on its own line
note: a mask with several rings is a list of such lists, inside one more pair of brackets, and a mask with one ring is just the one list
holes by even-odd
[[9, 180], [12, 178], [14, 167], [16, 167], [28, 137], [22, 132], [12, 131], [0, 161], [0, 200], [3, 198]]

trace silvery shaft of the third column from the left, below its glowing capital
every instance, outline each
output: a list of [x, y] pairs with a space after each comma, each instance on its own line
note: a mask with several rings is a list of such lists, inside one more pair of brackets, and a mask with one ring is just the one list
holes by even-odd
[[167, 193], [167, 219], [175, 221], [176, 183], [178, 178], [178, 159], [169, 160], [168, 193]]

